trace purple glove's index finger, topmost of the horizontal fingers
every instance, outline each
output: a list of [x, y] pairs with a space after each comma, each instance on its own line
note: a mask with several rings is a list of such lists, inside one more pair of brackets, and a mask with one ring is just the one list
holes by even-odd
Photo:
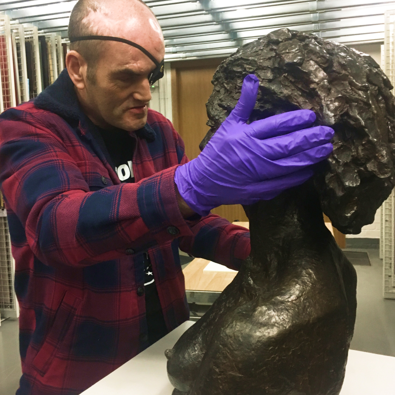
[[310, 110], [296, 110], [260, 119], [250, 124], [250, 134], [257, 139], [282, 136], [296, 130], [306, 129], [316, 120]]

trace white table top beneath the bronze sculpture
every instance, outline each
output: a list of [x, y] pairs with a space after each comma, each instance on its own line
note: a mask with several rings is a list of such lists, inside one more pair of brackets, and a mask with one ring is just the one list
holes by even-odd
[[[81, 395], [171, 395], [164, 351], [194, 324], [184, 322]], [[340, 395], [395, 395], [395, 357], [350, 350]]]

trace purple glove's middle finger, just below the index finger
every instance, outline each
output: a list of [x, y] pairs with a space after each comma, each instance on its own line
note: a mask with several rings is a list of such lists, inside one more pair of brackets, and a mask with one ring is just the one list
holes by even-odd
[[285, 136], [255, 140], [257, 142], [256, 153], [270, 160], [288, 158], [329, 143], [334, 133], [334, 130], [328, 126], [316, 126], [298, 130]]

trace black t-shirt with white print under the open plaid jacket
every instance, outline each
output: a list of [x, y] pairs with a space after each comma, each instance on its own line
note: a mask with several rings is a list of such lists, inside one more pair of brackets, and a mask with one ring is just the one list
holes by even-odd
[[[101, 128], [98, 129], [113, 162], [112, 164], [115, 166], [115, 171], [118, 174], [119, 180], [124, 183], [134, 183], [132, 159], [135, 140], [128, 132], [121, 129], [114, 131], [108, 131]], [[147, 252], [145, 252], [143, 256], [148, 338], [149, 342], [153, 344], [167, 334], [167, 328], [164, 322], [162, 308], [160, 306], [150, 256]]]

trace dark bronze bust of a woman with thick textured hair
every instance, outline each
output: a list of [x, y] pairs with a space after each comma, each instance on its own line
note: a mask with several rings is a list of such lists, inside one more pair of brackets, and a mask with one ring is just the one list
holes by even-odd
[[207, 144], [243, 78], [260, 94], [251, 121], [311, 109], [334, 152], [314, 179], [244, 207], [251, 255], [211, 309], [166, 351], [173, 394], [338, 395], [356, 316], [356, 273], [324, 225], [359, 233], [395, 185], [395, 104], [376, 62], [281, 29], [225, 60], [207, 103]]

